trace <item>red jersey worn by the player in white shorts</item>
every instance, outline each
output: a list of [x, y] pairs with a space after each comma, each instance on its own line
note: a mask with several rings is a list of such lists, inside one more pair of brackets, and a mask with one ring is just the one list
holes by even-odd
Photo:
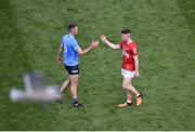
[[120, 43], [120, 48], [122, 49], [123, 56], [122, 69], [135, 70], [133, 56], [138, 55], [136, 44], [133, 41], [131, 43], [123, 41]]

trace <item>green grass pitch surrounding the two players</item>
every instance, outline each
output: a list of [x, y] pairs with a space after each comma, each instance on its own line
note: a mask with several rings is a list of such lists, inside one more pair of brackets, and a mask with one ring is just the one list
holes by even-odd
[[[0, 0], [0, 130], [195, 130], [194, 0]], [[82, 48], [105, 34], [120, 41], [130, 27], [140, 51], [144, 94], [141, 107], [119, 109], [121, 51], [105, 44], [80, 57], [79, 98], [42, 109], [10, 102], [11, 87], [23, 88], [20, 74], [43, 70], [48, 84], [66, 78], [56, 64], [66, 26], [79, 25]]]

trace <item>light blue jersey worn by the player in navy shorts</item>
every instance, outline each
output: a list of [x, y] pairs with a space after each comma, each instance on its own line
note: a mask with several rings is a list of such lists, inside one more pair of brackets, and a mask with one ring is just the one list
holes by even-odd
[[65, 35], [62, 39], [61, 47], [64, 47], [64, 65], [78, 65], [78, 42], [73, 35]]

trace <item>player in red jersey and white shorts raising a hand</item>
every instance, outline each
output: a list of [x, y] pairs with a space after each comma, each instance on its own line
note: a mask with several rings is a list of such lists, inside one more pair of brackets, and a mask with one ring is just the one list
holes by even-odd
[[136, 106], [142, 104], [141, 93], [132, 85], [132, 80], [140, 76], [139, 74], [139, 52], [136, 44], [130, 38], [130, 29], [121, 30], [122, 42], [120, 44], [114, 44], [109, 42], [104, 35], [100, 38], [113, 50], [122, 50], [122, 67], [121, 75], [123, 76], [122, 88], [127, 93], [127, 101], [123, 104], [119, 104], [119, 107], [127, 107], [132, 104], [132, 95], [136, 96]]

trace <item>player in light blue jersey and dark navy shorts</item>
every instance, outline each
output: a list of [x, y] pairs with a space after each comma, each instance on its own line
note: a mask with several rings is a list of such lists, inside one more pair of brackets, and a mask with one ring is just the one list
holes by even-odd
[[60, 100], [61, 103], [64, 102], [64, 92], [70, 85], [72, 98], [73, 98], [73, 106], [74, 107], [82, 107], [83, 105], [78, 102], [77, 97], [77, 87], [79, 80], [79, 56], [83, 56], [93, 49], [99, 47], [99, 42], [91, 42], [89, 48], [82, 50], [75, 36], [78, 34], [78, 27], [76, 24], [68, 25], [69, 34], [64, 35], [62, 38], [62, 42], [58, 48], [58, 56], [57, 62], [60, 65], [63, 64], [63, 52], [64, 52], [64, 66], [68, 72], [68, 79], [66, 79], [61, 87], [62, 98]]

